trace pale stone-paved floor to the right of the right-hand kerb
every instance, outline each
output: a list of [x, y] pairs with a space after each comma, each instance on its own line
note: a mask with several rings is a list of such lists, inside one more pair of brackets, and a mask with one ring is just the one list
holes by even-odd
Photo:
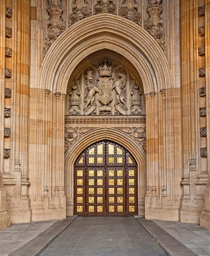
[[210, 231], [198, 224], [178, 221], [153, 221], [198, 256], [210, 256]]

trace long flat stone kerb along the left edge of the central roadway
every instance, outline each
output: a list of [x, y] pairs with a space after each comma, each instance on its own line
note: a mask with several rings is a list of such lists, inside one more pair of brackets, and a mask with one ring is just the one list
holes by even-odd
[[39, 256], [77, 217], [78, 215], [73, 215], [56, 222], [9, 256]]

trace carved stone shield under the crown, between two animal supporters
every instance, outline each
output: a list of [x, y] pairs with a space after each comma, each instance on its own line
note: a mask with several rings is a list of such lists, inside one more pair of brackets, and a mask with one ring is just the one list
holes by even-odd
[[98, 101], [103, 105], [107, 105], [113, 100], [112, 98], [113, 80], [108, 76], [100, 77], [98, 81], [98, 89], [101, 91], [98, 96]]

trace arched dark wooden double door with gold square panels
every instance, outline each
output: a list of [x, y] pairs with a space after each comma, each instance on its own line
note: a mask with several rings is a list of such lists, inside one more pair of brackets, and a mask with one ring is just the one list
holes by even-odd
[[75, 214], [137, 214], [137, 164], [121, 145], [101, 141], [89, 146], [75, 163]]

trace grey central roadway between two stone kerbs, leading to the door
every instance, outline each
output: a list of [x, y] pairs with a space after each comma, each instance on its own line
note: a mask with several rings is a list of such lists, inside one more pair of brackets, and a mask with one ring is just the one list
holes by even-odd
[[133, 217], [78, 217], [41, 256], [167, 256]]

